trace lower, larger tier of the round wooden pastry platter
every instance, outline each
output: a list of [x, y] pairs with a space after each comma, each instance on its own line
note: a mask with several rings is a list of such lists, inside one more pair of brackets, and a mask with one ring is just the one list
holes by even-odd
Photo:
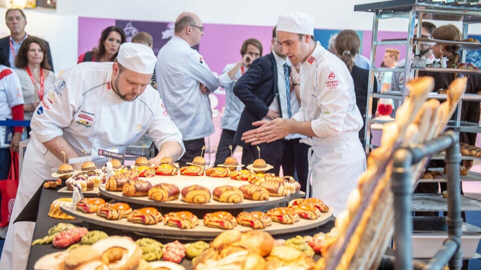
[[[162, 236], [180, 235], [180, 236], [190, 236], [193, 238], [201, 238], [201, 237], [214, 238], [222, 231], [225, 231], [224, 229], [205, 226], [203, 223], [203, 219], [199, 219], [199, 224], [194, 228], [181, 229], [178, 227], [164, 225], [163, 221], [155, 225], [144, 225], [144, 224], [129, 222], [127, 221], [127, 218], [122, 218], [120, 220], [110, 220], [110, 219], [106, 219], [104, 217], [98, 216], [96, 213], [84, 213], [82, 211], [78, 211], [66, 205], [62, 205], [60, 207], [63, 212], [70, 214], [72, 216], [75, 216], [82, 221], [94, 223], [94, 224], [105, 226], [105, 227], [134, 231], [140, 234], [148, 234], [148, 235], [154, 234], [159, 236], [160, 235]], [[291, 232], [316, 228], [328, 222], [331, 219], [333, 212], [334, 212], [334, 209], [330, 207], [328, 212], [321, 213], [319, 218], [315, 220], [300, 218], [300, 220], [294, 224], [281, 224], [279, 222], [272, 222], [271, 226], [268, 226], [267, 228], [260, 229], [260, 230], [264, 230], [266, 232], [269, 232], [271, 235], [275, 235], [275, 234], [291, 233]], [[233, 229], [239, 230], [239, 231], [253, 230], [253, 228], [251, 227], [246, 227], [242, 225], [237, 225]]]

